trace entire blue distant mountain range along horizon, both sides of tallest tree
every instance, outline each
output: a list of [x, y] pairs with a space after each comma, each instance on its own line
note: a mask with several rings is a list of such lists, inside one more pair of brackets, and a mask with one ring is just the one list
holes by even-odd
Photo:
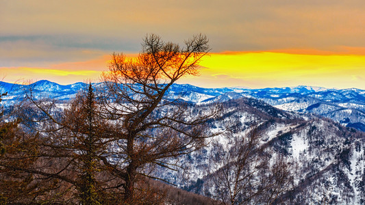
[[[100, 83], [94, 83], [99, 86]], [[11, 105], [23, 98], [25, 90], [32, 87], [34, 96], [68, 101], [86, 87], [86, 83], [59, 85], [47, 80], [30, 85], [0, 82], [3, 105]], [[325, 87], [297, 86], [249, 89], [245, 87], [202, 88], [188, 84], [174, 84], [169, 90], [171, 98], [180, 98], [198, 105], [210, 102], [225, 102], [238, 98], [255, 98], [282, 109], [296, 113], [312, 113], [348, 127], [365, 131], [365, 90], [327, 89]]]

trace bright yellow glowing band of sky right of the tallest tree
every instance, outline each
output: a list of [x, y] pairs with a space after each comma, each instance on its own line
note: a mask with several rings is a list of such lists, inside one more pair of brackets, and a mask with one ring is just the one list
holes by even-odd
[[290, 53], [214, 53], [201, 61], [200, 77], [184, 82], [203, 87], [322, 87], [365, 88], [365, 55]]

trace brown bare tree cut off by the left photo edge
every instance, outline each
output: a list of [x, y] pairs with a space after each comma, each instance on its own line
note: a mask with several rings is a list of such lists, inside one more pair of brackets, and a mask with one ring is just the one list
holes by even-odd
[[0, 204], [46, 202], [47, 195], [57, 188], [55, 180], [40, 180], [34, 173], [21, 171], [36, 165], [39, 135], [23, 131], [21, 120], [13, 114], [0, 113]]

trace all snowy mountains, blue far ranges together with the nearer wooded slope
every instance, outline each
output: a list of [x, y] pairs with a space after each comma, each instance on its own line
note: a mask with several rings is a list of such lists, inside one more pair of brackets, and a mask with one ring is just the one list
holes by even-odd
[[[84, 87], [86, 83], [0, 83], [0, 92], [8, 92], [2, 101], [6, 107], [21, 102], [30, 91], [38, 98], [67, 102]], [[208, 89], [175, 84], [168, 96], [191, 102], [192, 109], [198, 111], [214, 109], [213, 102], [219, 102], [221, 117], [211, 120], [208, 127], [223, 133], [180, 160], [188, 172], [156, 170], [155, 174], [166, 181], [211, 197], [217, 171], [214, 165], [231, 150], [236, 137], [246, 136], [256, 127], [260, 146], [271, 158], [285, 156], [297, 165], [291, 171], [291, 191], [281, 195], [284, 204], [365, 204], [364, 90], [309, 86]]]

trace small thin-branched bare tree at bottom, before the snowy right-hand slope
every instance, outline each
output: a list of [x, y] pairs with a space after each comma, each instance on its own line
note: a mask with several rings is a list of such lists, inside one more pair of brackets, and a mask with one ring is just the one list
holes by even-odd
[[254, 128], [247, 136], [231, 137], [229, 151], [216, 162], [216, 171], [206, 187], [218, 204], [273, 204], [290, 189], [292, 164], [260, 144]]

